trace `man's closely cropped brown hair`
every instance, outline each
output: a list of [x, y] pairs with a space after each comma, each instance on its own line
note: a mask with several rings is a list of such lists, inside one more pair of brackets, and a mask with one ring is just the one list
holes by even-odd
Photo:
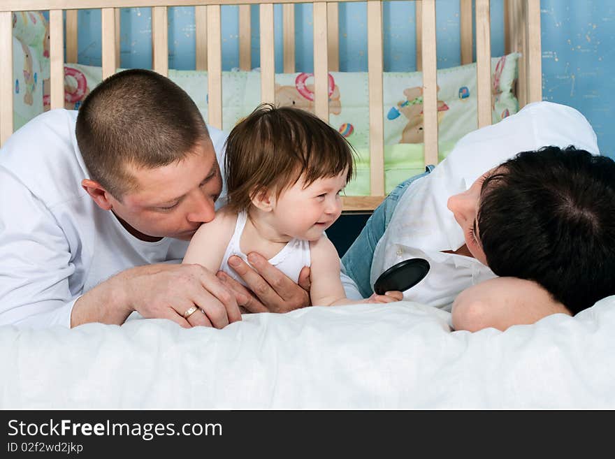
[[127, 164], [166, 166], [209, 141], [190, 96], [144, 69], [115, 73], [94, 88], [81, 105], [75, 134], [89, 178], [117, 199], [136, 186]]

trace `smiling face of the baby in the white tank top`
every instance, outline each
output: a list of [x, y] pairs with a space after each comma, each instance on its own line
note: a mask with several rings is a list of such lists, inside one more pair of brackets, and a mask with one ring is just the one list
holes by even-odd
[[335, 177], [320, 178], [305, 187], [303, 177], [282, 191], [275, 213], [277, 231], [291, 238], [319, 240], [322, 233], [340, 217], [340, 192], [346, 186], [347, 171]]

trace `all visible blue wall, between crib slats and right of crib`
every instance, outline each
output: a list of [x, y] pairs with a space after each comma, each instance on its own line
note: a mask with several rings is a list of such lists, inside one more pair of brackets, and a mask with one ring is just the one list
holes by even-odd
[[[238, 67], [236, 6], [222, 7], [222, 68]], [[384, 70], [414, 71], [414, 2], [384, 4]], [[150, 68], [150, 8], [121, 13], [122, 67]], [[282, 71], [282, 7], [275, 6], [276, 71]], [[366, 71], [366, 4], [340, 5], [340, 70]], [[437, 0], [437, 50], [440, 68], [458, 66], [459, 1]], [[580, 110], [598, 134], [604, 154], [615, 158], [612, 79], [615, 68], [615, 2], [612, 0], [541, 0], [543, 99]], [[168, 13], [169, 66], [191, 69], [194, 59], [194, 8], [170, 8]], [[503, 0], [491, 0], [491, 54], [504, 53]], [[296, 6], [298, 71], [312, 70], [312, 6]], [[80, 64], [101, 65], [100, 10], [79, 14]], [[252, 7], [252, 66], [259, 66], [259, 11]]]

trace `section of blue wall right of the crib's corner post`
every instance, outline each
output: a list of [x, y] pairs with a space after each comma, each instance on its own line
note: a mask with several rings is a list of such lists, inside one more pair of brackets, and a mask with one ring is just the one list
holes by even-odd
[[542, 98], [583, 113], [615, 158], [615, 2], [541, 0]]

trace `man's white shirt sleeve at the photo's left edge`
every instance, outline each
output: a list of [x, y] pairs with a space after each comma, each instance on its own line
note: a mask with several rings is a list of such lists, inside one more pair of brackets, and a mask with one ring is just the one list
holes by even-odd
[[75, 268], [66, 235], [50, 210], [3, 168], [0, 260], [0, 324], [70, 325], [77, 296], [68, 284]]

